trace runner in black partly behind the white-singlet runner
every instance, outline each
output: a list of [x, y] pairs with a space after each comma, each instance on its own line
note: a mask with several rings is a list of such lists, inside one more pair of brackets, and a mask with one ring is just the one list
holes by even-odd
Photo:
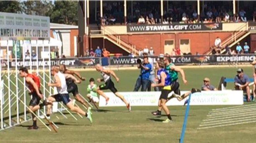
[[[59, 71], [61, 71], [63, 74], [71, 74], [71, 75], [77, 75], [77, 77], [79, 77], [81, 80], [85, 80], [84, 77], [81, 77], [80, 74], [78, 72], [66, 69], [66, 66], [64, 64], [59, 66]], [[82, 97], [80, 97], [80, 94], [78, 92], [78, 86], [75, 84], [76, 83], [80, 83], [80, 81], [76, 80], [76, 78], [66, 78], [66, 84], [67, 84], [67, 92], [68, 93], [72, 93], [73, 96], [75, 97], [75, 100], [77, 100], [78, 102], [80, 102], [81, 104], [83, 104], [87, 109], [88, 109], [88, 104], [85, 102], [85, 100], [82, 99]]]

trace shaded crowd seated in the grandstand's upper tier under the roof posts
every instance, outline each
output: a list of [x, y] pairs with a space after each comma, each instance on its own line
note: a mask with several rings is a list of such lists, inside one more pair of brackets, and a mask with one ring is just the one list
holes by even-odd
[[[224, 2], [223, 2], [224, 3]], [[133, 8], [127, 7], [127, 23], [138, 24], [156, 24], [156, 23], [211, 23], [211, 22], [246, 22], [249, 20], [256, 20], [256, 9], [253, 5], [249, 7], [240, 8], [235, 15], [233, 15], [233, 5], [230, 3], [212, 3], [205, 1], [200, 8], [200, 20], [198, 21], [197, 3], [186, 4], [179, 2], [169, 2], [168, 8], [165, 3], [163, 10], [163, 21], [160, 16], [160, 3], [152, 1], [133, 1]], [[106, 1], [103, 3], [103, 18], [102, 24], [111, 25], [115, 23], [124, 22], [124, 6], [122, 1]], [[98, 13], [98, 21], [100, 15]]]

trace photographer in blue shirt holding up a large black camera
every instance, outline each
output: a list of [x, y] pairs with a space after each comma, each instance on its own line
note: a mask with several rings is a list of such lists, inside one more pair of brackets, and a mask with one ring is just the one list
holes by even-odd
[[143, 57], [143, 62], [141, 59], [137, 59], [138, 69], [140, 69], [140, 76], [138, 77], [133, 91], [138, 91], [141, 86], [141, 91], [146, 91], [147, 85], [149, 83], [150, 71], [152, 69], [151, 64], [148, 62], [148, 57]]

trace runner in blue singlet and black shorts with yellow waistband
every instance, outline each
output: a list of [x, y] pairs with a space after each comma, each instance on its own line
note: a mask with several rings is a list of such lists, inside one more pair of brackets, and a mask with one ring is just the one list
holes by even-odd
[[165, 103], [168, 101], [167, 97], [168, 94], [178, 90], [178, 84], [176, 84], [175, 82], [171, 81], [170, 75], [168, 74], [168, 72], [164, 69], [165, 65], [163, 61], [158, 60], [158, 79], [161, 79], [159, 84], [154, 84], [152, 83], [151, 86], [152, 87], [163, 87], [162, 91], [161, 91], [161, 95], [159, 98], [159, 102], [158, 102], [158, 106], [163, 108], [163, 110], [165, 111], [166, 115], [167, 115], [167, 119], [165, 121], [163, 121], [163, 123], [169, 123], [171, 122], [171, 115], [169, 112], [168, 107], [165, 105]]

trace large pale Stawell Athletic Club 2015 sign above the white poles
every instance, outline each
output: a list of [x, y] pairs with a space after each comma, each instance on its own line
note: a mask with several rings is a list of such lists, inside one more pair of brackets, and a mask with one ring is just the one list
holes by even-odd
[[45, 16], [1, 13], [1, 39], [50, 39], [50, 19]]

